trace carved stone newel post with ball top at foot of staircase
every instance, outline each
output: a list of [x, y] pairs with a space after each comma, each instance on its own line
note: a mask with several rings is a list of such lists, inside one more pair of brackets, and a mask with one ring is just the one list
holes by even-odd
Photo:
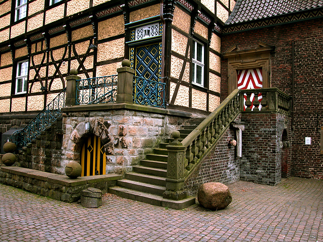
[[184, 184], [185, 147], [178, 141], [180, 132], [174, 131], [172, 136], [174, 142], [166, 146], [168, 161], [166, 191], [163, 197], [172, 200], [182, 200], [186, 198], [186, 192], [182, 190]]

